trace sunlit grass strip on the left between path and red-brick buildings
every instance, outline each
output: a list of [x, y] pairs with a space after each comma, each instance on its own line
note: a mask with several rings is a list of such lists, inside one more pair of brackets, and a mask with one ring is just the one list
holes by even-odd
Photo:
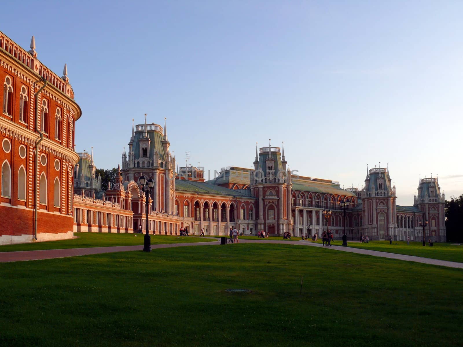
[[[21, 243], [16, 245], [0, 246], [0, 252], [35, 251], [39, 249], [88, 248], [110, 246], [143, 245], [144, 234], [117, 234], [117, 233], [74, 233], [76, 239], [61, 241], [46, 241], [35, 243]], [[151, 235], [151, 244], [185, 243], [213, 241], [204, 237], [177, 236], [177, 235]]]

